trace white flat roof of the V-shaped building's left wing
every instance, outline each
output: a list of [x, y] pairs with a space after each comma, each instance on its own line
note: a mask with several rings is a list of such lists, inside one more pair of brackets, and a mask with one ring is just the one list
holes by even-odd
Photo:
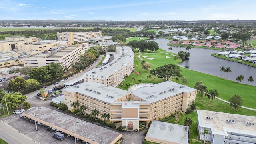
[[[83, 82], [81, 84], [77, 84], [76, 86], [65, 88], [63, 90], [66, 90], [68, 92], [78, 92], [81, 94], [85, 94], [86, 96], [90, 96], [92, 98], [96, 98], [98, 100], [102, 100], [108, 103], [115, 103], [116, 99], [128, 93], [126, 90], [114, 88], [112, 86], [107, 87], [106, 85], [97, 82]], [[98, 94], [97, 92], [100, 92], [100, 94]], [[107, 97], [107, 95], [110, 97]]]

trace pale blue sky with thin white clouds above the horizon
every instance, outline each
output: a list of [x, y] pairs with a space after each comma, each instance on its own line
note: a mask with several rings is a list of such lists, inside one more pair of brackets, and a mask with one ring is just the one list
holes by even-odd
[[256, 20], [256, 0], [1, 0], [0, 20]]

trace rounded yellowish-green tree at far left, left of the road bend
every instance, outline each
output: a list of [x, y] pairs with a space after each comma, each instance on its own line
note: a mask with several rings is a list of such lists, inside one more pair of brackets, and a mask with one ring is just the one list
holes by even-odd
[[27, 87], [26, 80], [22, 77], [15, 78], [14, 80], [10, 80], [7, 90], [10, 92], [19, 92], [20, 90], [24, 90]]

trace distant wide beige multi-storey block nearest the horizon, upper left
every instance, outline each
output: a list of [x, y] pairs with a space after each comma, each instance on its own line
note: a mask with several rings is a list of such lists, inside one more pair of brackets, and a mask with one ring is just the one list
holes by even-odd
[[68, 42], [84, 42], [89, 40], [89, 38], [100, 37], [101, 31], [98, 32], [57, 32], [58, 40], [65, 40]]

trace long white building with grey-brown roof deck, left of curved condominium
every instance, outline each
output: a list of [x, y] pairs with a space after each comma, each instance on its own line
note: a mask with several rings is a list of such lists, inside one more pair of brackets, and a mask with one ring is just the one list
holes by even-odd
[[25, 57], [24, 66], [41, 67], [46, 66], [51, 62], [58, 62], [60, 63], [60, 66], [67, 66], [68, 69], [70, 69], [71, 63], [78, 62], [80, 60], [80, 55], [84, 54], [87, 48], [87, 44], [86, 46], [81, 46], [81, 44], [76, 46], [61, 46], [57, 50], [49, 51], [44, 54]]

